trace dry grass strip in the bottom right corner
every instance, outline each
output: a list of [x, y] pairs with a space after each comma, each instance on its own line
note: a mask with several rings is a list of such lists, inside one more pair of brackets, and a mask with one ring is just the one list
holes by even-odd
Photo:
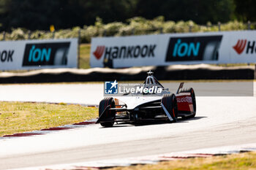
[[155, 165], [116, 167], [111, 170], [182, 170], [182, 169], [256, 169], [256, 152], [244, 152], [211, 158], [189, 158], [178, 161], [164, 161]]

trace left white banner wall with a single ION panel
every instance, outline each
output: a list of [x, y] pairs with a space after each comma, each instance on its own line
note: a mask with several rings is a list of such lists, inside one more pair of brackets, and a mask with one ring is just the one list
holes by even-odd
[[0, 42], [0, 70], [78, 66], [78, 39]]

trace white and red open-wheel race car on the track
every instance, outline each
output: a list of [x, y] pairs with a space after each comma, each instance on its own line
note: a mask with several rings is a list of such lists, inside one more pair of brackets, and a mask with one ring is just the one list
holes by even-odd
[[170, 93], [149, 71], [146, 81], [138, 89], [155, 87], [161, 88], [162, 92], [151, 96], [148, 93], [126, 93], [124, 96], [105, 97], [99, 102], [97, 123], [111, 127], [114, 123], [136, 124], [158, 120], [175, 123], [178, 117], [195, 117], [195, 92], [193, 88], [183, 88], [183, 85], [184, 82], [181, 82], [176, 94]]

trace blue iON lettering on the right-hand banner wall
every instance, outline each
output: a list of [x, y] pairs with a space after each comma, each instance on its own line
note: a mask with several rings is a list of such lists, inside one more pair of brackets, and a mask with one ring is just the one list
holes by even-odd
[[184, 57], [190, 55], [197, 56], [200, 49], [200, 42], [181, 42], [181, 39], [178, 39], [174, 45], [173, 57]]

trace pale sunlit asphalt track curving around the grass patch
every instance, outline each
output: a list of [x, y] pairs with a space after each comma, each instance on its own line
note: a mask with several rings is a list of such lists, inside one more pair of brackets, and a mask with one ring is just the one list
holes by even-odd
[[[98, 104], [102, 84], [0, 85], [1, 101]], [[195, 89], [197, 92], [197, 90]], [[9, 93], [8, 93], [9, 92]], [[178, 123], [88, 125], [0, 140], [0, 169], [128, 158], [256, 142], [254, 96], [198, 96], [197, 115]]]

